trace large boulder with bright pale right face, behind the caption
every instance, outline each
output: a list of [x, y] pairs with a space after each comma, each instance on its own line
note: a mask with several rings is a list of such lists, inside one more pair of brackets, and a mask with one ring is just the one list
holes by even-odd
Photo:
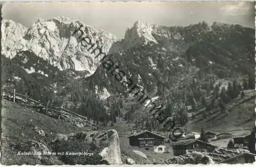
[[81, 153], [60, 155], [66, 164], [122, 164], [116, 130], [57, 134], [51, 145], [55, 152]]

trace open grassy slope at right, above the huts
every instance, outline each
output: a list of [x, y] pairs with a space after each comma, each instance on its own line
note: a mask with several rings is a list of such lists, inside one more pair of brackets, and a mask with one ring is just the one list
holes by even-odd
[[203, 114], [197, 115], [191, 122], [191, 130], [200, 132], [203, 127], [205, 131], [229, 131], [233, 134], [239, 133], [238, 131], [251, 130], [255, 126], [255, 117], [253, 118], [255, 91], [245, 90], [244, 93], [244, 98], [239, 96], [226, 104], [226, 112], [221, 112], [218, 107], [218, 109], [209, 111], [206, 118], [203, 118]]

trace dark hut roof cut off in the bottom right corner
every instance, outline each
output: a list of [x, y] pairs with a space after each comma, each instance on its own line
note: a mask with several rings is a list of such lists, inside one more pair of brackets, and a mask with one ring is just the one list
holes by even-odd
[[253, 163], [255, 161], [256, 154], [242, 153], [237, 156], [230, 157], [218, 163], [237, 164], [237, 163]]

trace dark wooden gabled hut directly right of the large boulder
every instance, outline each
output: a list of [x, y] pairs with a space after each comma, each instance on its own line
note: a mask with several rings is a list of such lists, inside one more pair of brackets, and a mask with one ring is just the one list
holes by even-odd
[[165, 139], [165, 137], [150, 131], [143, 131], [127, 138], [129, 138], [130, 146], [137, 146], [151, 151], [154, 151], [154, 146], [162, 145]]

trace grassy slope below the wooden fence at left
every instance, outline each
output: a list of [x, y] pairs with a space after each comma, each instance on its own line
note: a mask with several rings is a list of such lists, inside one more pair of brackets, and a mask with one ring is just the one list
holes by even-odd
[[[25, 144], [28, 140], [39, 142], [42, 140], [48, 145], [57, 133], [86, 131], [71, 123], [56, 120], [13, 102], [3, 100], [2, 106], [2, 164], [40, 164], [40, 161], [32, 156], [17, 155], [18, 149], [12, 146]], [[33, 130], [34, 126], [44, 130], [45, 137], [37, 134]], [[54, 161], [53, 164], [61, 164], [61, 162]]]

